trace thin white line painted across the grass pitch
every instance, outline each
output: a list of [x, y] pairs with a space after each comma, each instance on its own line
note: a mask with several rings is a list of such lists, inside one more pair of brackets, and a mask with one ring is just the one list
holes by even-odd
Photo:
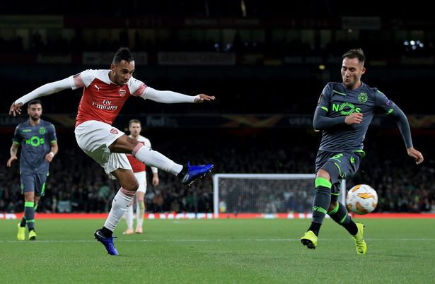
[[[322, 242], [337, 242], [346, 241], [349, 239], [321, 239]], [[434, 238], [422, 238], [422, 239], [366, 239], [370, 242], [384, 242], [384, 241], [401, 241], [401, 242], [421, 242], [421, 241], [435, 241]], [[116, 239], [117, 242], [300, 242], [301, 239]], [[0, 243], [24, 243], [26, 241], [18, 240], [0, 240]], [[38, 239], [35, 243], [69, 243], [69, 242], [96, 242], [95, 239]]]

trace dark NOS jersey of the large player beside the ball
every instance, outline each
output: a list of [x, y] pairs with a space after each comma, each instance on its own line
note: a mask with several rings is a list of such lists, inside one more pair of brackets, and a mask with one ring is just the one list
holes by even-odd
[[[323, 129], [319, 150], [342, 152], [362, 150], [367, 129], [376, 109], [390, 114], [396, 105], [377, 88], [364, 83], [355, 90], [347, 89], [343, 83], [327, 83], [320, 95], [316, 112], [323, 117], [336, 118], [342, 122]], [[344, 124], [344, 117], [354, 112], [363, 114], [360, 124]]]

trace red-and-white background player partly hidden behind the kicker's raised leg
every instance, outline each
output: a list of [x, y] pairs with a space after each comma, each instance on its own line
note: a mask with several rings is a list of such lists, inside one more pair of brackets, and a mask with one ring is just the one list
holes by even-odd
[[[141, 136], [141, 122], [138, 119], [132, 119], [129, 121], [130, 137], [136, 139], [140, 143], [143, 143], [146, 147], [151, 149], [151, 141], [144, 136]], [[139, 188], [136, 191], [136, 230], [133, 230], [133, 204], [132, 201], [125, 212], [125, 221], [127, 222], [127, 230], [123, 232], [124, 235], [131, 235], [134, 232], [141, 234], [143, 232], [142, 225], [144, 225], [144, 213], [145, 203], [144, 197], [146, 194], [146, 165], [134, 158], [132, 155], [127, 154], [127, 159], [132, 165], [134, 177], [139, 182]], [[158, 186], [158, 170], [156, 167], [151, 167], [153, 172], [153, 186]]]

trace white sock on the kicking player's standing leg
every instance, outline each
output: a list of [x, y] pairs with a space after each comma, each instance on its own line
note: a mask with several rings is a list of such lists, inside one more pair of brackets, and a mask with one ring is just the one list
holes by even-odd
[[105, 220], [104, 227], [112, 232], [115, 230], [115, 227], [120, 222], [122, 215], [124, 215], [130, 202], [132, 202], [134, 194], [136, 194], [136, 191], [128, 191], [122, 187], [120, 188], [113, 198], [112, 208], [110, 209], [108, 219]]

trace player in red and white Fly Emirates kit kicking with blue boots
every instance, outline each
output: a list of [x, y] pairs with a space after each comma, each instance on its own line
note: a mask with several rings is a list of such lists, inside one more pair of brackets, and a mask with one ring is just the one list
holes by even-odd
[[110, 177], [120, 182], [120, 190], [113, 198], [112, 208], [104, 226], [94, 232], [95, 239], [104, 245], [108, 254], [119, 255], [113, 244], [112, 233], [127, 210], [139, 184], [134, 177], [126, 153], [132, 154], [146, 165], [158, 167], [177, 176], [182, 184], [192, 184], [195, 179], [211, 171], [213, 165], [183, 166], [165, 155], [151, 150], [112, 126], [122, 105], [130, 96], [142, 97], [163, 103], [204, 102], [214, 96], [183, 95], [169, 90], [156, 90], [133, 78], [134, 58], [127, 47], [115, 53], [110, 69], [88, 69], [60, 81], [47, 83], [12, 103], [9, 114], [21, 113], [25, 102], [36, 97], [51, 95], [61, 90], [83, 88], [76, 117], [74, 134], [79, 147], [100, 164]]

